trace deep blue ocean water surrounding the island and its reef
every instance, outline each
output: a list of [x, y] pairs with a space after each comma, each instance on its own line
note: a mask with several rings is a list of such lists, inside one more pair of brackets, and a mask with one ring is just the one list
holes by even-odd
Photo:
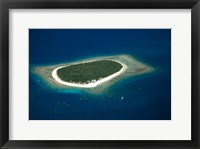
[[[100, 94], [53, 89], [31, 72], [34, 66], [119, 54], [155, 70]], [[29, 120], [171, 119], [170, 29], [29, 29], [29, 66]]]

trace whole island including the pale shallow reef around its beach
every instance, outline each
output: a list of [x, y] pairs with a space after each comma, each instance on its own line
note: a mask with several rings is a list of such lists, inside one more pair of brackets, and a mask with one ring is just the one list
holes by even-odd
[[119, 80], [153, 70], [153, 67], [140, 62], [131, 55], [100, 56], [74, 62], [31, 67], [31, 72], [49, 87], [66, 91], [77, 88], [93, 93], [103, 92]]

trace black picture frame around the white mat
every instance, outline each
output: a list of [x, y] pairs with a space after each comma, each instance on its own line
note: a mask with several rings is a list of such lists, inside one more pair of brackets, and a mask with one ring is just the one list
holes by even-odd
[[[192, 140], [191, 141], [23, 141], [9, 140], [9, 9], [191, 9], [192, 14]], [[200, 149], [200, 3], [199, 0], [0, 0], [0, 147], [43, 148], [159, 148]], [[23, 130], [22, 130], [23, 131]]]

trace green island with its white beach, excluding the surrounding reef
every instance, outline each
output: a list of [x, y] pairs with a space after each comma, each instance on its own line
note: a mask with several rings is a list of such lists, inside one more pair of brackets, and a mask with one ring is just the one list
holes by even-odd
[[127, 66], [114, 60], [98, 60], [61, 66], [53, 70], [52, 77], [59, 83], [90, 88], [124, 72]]

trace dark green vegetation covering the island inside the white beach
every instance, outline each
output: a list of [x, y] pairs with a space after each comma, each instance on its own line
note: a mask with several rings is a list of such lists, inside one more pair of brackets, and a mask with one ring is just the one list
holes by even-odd
[[71, 83], [90, 83], [108, 77], [122, 69], [122, 65], [111, 60], [100, 60], [72, 64], [57, 70], [59, 78]]

